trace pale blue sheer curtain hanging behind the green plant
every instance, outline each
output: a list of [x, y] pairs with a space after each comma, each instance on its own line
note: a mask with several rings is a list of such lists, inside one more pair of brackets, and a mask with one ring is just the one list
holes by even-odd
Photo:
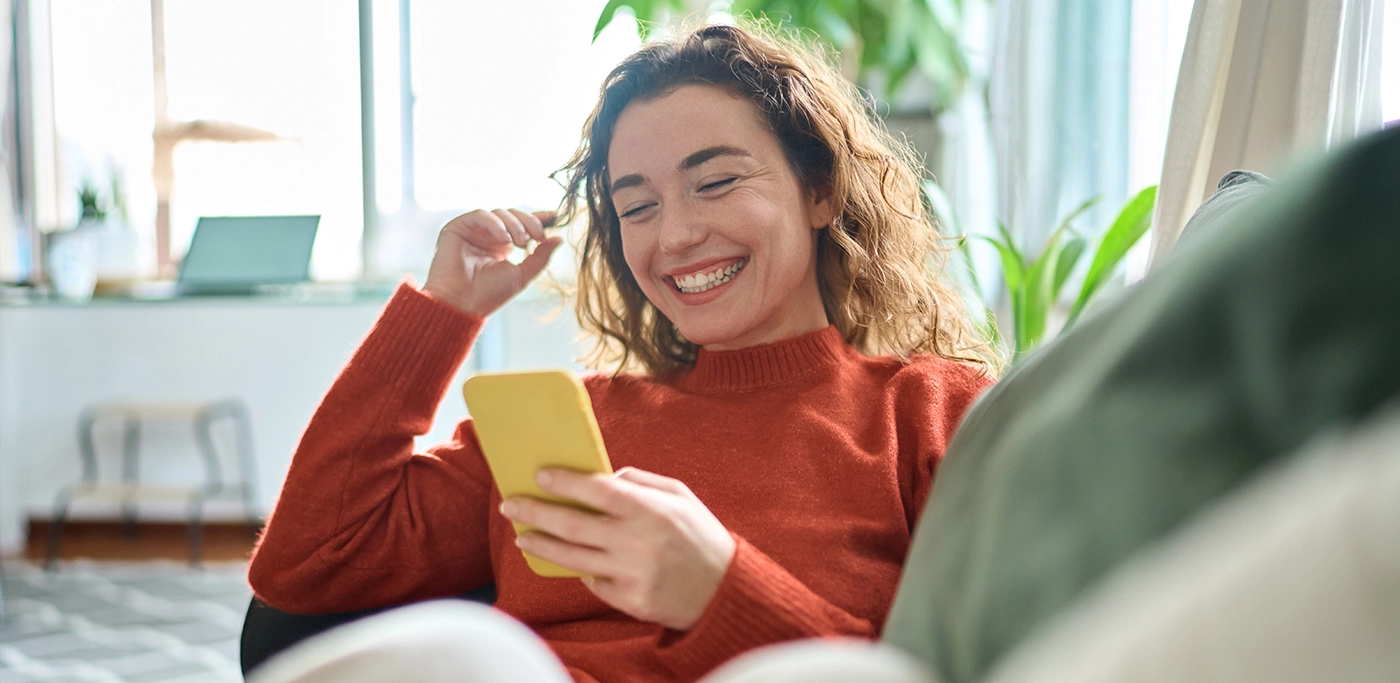
[[1030, 253], [1091, 197], [1099, 230], [1127, 199], [1130, 3], [998, 0], [990, 101], [998, 216]]

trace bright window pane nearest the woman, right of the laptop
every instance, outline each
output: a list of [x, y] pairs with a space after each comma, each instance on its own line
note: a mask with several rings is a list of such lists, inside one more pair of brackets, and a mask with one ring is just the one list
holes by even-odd
[[[458, 213], [557, 206], [563, 190], [550, 174], [578, 146], [603, 77], [640, 45], [626, 20], [591, 41], [603, 4], [375, 1], [377, 249], [385, 274], [424, 272], [437, 230]], [[571, 259], [553, 260], [559, 270]]]

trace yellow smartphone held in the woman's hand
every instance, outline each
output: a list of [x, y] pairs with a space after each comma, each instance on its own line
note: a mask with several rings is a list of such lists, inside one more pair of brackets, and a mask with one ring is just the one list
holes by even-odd
[[[462, 385], [462, 396], [501, 498], [529, 495], [596, 512], [535, 484], [543, 467], [612, 474], [594, 403], [578, 378], [561, 369], [480, 374]], [[515, 523], [517, 535], [529, 529]], [[529, 553], [525, 563], [540, 577], [582, 575]]]

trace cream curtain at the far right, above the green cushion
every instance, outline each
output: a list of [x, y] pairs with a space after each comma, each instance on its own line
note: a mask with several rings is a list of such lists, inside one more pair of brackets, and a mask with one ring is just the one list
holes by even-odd
[[1385, 0], [1197, 0], [1182, 55], [1149, 267], [1236, 168], [1277, 174], [1380, 127]]

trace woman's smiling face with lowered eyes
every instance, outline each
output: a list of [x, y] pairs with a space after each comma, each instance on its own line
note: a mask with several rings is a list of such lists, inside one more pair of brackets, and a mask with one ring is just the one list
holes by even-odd
[[682, 85], [633, 102], [608, 168], [627, 266], [687, 340], [743, 348], [827, 325], [816, 241], [830, 202], [802, 186], [749, 101]]

